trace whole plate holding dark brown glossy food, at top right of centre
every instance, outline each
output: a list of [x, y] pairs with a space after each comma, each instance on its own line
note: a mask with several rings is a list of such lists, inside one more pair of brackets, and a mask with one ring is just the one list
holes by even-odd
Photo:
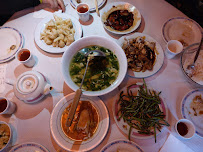
[[114, 34], [127, 34], [141, 23], [140, 12], [126, 2], [110, 3], [101, 11], [101, 20], [106, 30]]

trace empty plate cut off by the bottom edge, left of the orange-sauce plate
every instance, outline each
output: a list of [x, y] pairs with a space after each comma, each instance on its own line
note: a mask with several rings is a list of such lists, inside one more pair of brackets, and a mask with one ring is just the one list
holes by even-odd
[[15, 146], [9, 152], [49, 152], [49, 151], [40, 144], [34, 142], [27, 142]]

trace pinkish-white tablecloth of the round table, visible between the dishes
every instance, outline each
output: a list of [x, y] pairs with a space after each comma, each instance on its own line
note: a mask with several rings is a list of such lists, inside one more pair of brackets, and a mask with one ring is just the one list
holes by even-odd
[[[106, 0], [105, 4], [99, 8], [99, 11], [102, 11], [109, 3], [117, 1], [121, 0]], [[125, 2], [134, 5], [141, 14], [141, 24], [132, 33], [140, 32], [150, 35], [161, 45], [163, 51], [165, 51], [166, 47], [166, 42], [162, 35], [164, 23], [173, 17], [187, 17], [164, 0], [125, 0]], [[89, 21], [82, 22], [79, 20], [77, 11], [71, 5], [71, 0], [64, 0], [64, 3], [66, 5], [66, 11], [64, 13], [75, 17], [80, 22], [82, 37], [98, 35], [117, 42], [123, 36], [107, 31], [103, 27], [101, 18], [97, 15], [96, 11], [90, 12]], [[48, 53], [40, 49], [34, 40], [35, 29], [39, 22], [53, 13], [50, 9], [25, 9], [15, 13], [2, 26], [17, 29], [23, 36], [23, 48], [29, 49], [36, 60], [36, 64], [32, 68], [25, 67], [15, 58], [0, 64], [0, 96], [8, 98], [17, 107], [12, 115], [0, 115], [0, 120], [9, 123], [12, 128], [12, 142], [7, 151], [15, 145], [26, 142], [39, 143], [45, 146], [50, 152], [65, 151], [58, 146], [52, 137], [50, 117], [55, 105], [64, 96], [74, 91], [64, 81], [61, 64], [63, 53]], [[173, 59], [164, 57], [164, 63], [161, 69], [152, 76], [145, 78], [147, 85], [154, 90], [161, 91], [161, 97], [167, 104], [168, 123], [170, 124], [169, 127], [164, 127], [162, 132], [157, 136], [156, 143], [154, 142], [154, 138], [133, 139], [133, 142], [138, 144], [145, 152], [169, 152], [173, 146], [179, 152], [185, 152], [185, 149], [191, 152], [203, 151], [203, 138], [201, 136], [195, 134], [191, 139], [182, 139], [179, 138], [174, 129], [176, 121], [183, 118], [181, 115], [181, 102], [184, 96], [191, 90], [198, 88], [198, 86], [188, 81], [183, 74], [180, 57], [181, 54]], [[42, 73], [54, 89], [39, 102], [27, 104], [15, 96], [13, 86], [6, 84], [5, 80], [12, 79], [15, 81], [20, 74], [31, 70]], [[92, 152], [100, 151], [112, 141], [119, 139], [128, 140], [128, 136], [122, 133], [116, 125], [112, 110], [113, 103], [115, 97], [123, 87], [141, 81], [142, 79], [126, 75], [118, 88], [106, 95], [99, 96], [108, 109], [110, 122], [105, 138], [91, 150]], [[166, 145], [166, 143], [168, 144]]]

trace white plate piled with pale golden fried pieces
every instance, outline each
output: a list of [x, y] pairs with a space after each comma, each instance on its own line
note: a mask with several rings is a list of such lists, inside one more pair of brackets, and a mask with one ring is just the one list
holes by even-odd
[[35, 29], [35, 42], [49, 53], [63, 53], [68, 46], [82, 36], [79, 21], [64, 13], [44, 18]]

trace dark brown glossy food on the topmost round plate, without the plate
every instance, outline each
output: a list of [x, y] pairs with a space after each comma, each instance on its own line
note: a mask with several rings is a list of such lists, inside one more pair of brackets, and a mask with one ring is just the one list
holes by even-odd
[[107, 21], [104, 22], [106, 26], [111, 28], [124, 31], [129, 29], [133, 25], [134, 15], [128, 10], [117, 10], [109, 14]]

